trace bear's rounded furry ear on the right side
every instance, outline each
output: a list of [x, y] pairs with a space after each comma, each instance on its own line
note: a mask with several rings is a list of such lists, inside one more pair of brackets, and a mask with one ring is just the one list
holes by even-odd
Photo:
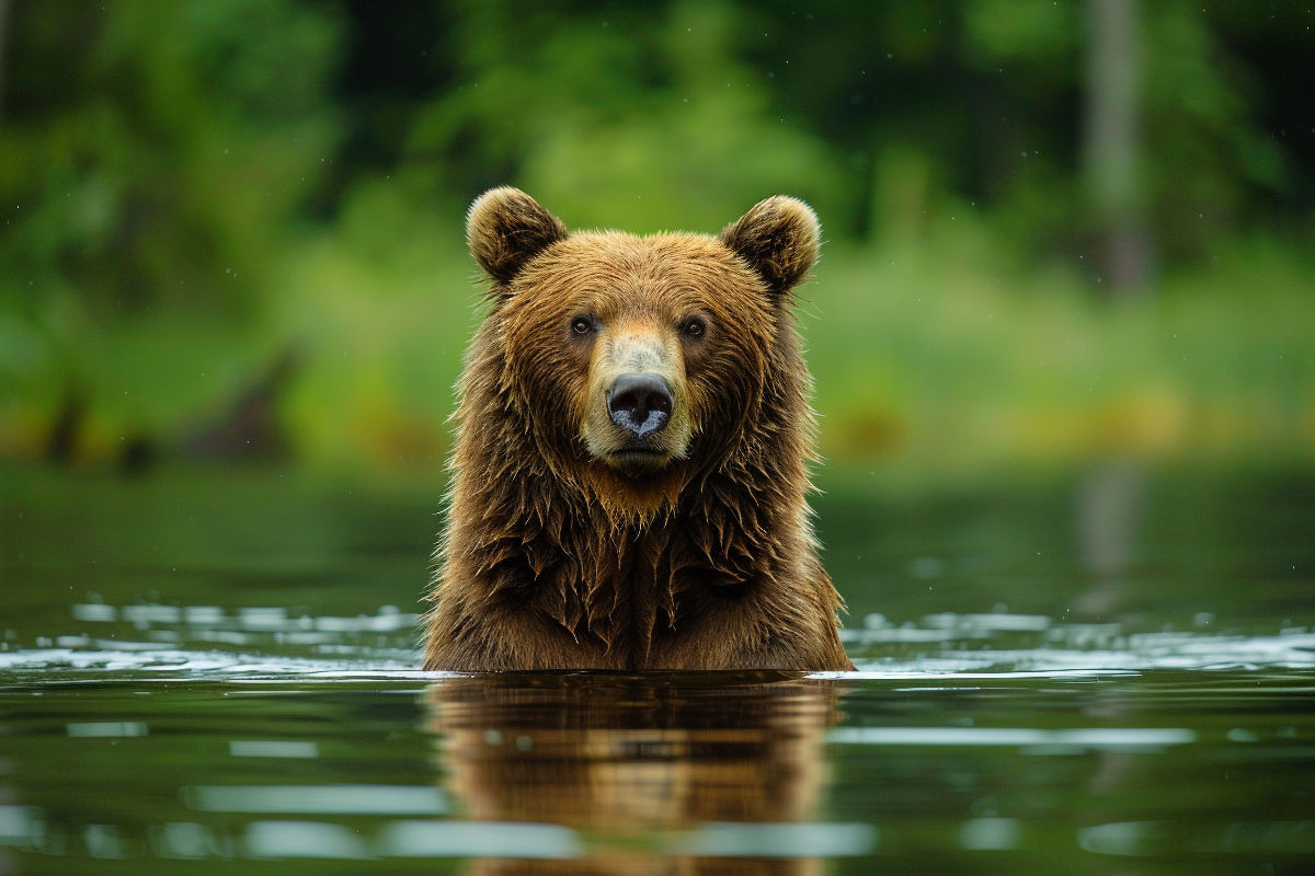
[[784, 294], [817, 261], [822, 226], [807, 204], [777, 194], [726, 226], [721, 239], [767, 280], [773, 293]]

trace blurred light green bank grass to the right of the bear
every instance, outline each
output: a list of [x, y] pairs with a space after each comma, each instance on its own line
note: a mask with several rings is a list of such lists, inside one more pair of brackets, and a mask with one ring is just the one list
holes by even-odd
[[1089, 456], [1301, 457], [1315, 441], [1315, 265], [1239, 242], [1147, 302], [992, 250], [970, 210], [923, 243], [832, 251], [803, 328], [832, 460], [990, 469]]

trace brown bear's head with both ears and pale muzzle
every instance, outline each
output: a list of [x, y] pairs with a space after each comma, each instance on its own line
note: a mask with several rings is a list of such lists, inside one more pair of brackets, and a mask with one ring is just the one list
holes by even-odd
[[767, 198], [718, 236], [640, 238], [569, 232], [498, 188], [471, 206], [467, 238], [490, 280], [501, 410], [609, 510], [669, 506], [747, 440], [747, 423], [764, 428], [781, 368], [806, 383], [790, 290], [819, 227], [802, 201]]

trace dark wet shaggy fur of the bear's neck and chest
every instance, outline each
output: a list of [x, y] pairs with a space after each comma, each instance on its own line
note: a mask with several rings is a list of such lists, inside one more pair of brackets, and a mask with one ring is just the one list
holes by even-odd
[[454, 458], [452, 516], [480, 508], [480, 519], [443, 549], [444, 566], [459, 566], [444, 574], [473, 580], [481, 600], [643, 666], [654, 634], [679, 629], [701, 599], [736, 598], [815, 559], [806, 418], [761, 405], [721, 458], [690, 464], [672, 500], [640, 511], [600, 500], [573, 475], [588, 458], [554, 464], [487, 389], [466, 407]]

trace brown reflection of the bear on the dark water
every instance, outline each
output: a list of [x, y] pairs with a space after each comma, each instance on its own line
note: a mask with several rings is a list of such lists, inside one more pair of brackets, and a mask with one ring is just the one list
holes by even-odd
[[[835, 713], [830, 682], [780, 672], [480, 675], [434, 683], [429, 701], [464, 817], [565, 825], [590, 838], [581, 860], [485, 859], [473, 873], [819, 871], [805, 859], [698, 858], [679, 837], [706, 822], [810, 820]], [[655, 834], [677, 837], [673, 855], [643, 854]]]

